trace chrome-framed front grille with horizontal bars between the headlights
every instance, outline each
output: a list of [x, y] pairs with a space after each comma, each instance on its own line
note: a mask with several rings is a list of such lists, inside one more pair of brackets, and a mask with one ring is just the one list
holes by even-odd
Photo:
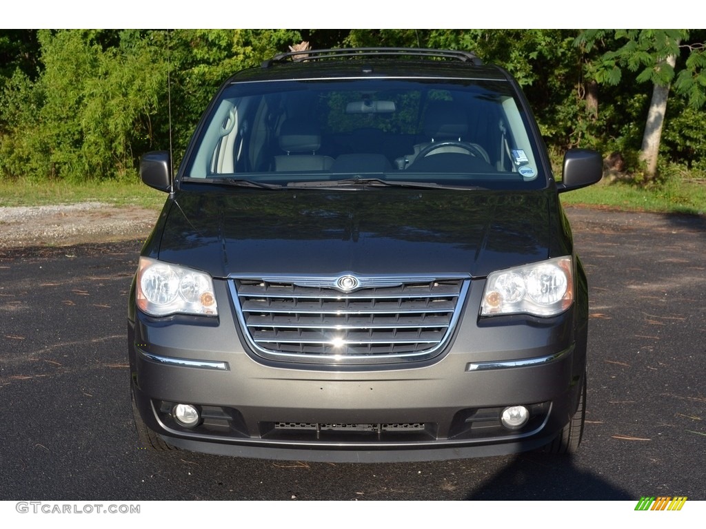
[[[320, 286], [317, 286], [320, 285]], [[359, 278], [234, 278], [230, 287], [247, 341], [270, 360], [335, 365], [425, 360], [441, 353], [469, 281]], [[367, 286], [371, 285], [371, 286]]]

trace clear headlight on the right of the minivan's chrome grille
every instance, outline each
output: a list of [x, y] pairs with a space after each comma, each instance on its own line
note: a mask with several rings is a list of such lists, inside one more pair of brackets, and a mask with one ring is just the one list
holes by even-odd
[[486, 281], [481, 316], [561, 314], [573, 303], [571, 257], [557, 257], [493, 272]]

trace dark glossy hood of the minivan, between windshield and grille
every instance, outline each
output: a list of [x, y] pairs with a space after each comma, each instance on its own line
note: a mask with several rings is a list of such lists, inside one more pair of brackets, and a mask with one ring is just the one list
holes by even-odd
[[162, 231], [160, 260], [214, 277], [486, 276], [550, 256], [551, 197], [551, 190], [182, 190], [155, 233]]

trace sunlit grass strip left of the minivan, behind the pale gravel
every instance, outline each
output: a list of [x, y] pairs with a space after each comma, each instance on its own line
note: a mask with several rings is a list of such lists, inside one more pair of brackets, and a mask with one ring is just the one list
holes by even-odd
[[166, 198], [165, 193], [148, 188], [137, 179], [83, 184], [0, 181], [0, 207], [104, 202], [114, 206], [160, 209]]

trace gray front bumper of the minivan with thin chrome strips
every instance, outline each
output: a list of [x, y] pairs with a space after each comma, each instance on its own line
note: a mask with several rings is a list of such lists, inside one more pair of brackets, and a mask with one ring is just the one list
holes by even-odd
[[[481, 292], [472, 288], [467, 307]], [[269, 362], [246, 350], [228, 310], [204, 320], [138, 312], [128, 339], [145, 424], [210, 454], [375, 462], [527, 451], [566, 426], [585, 374], [575, 308], [549, 319], [467, 315], [437, 358], [347, 368]], [[179, 425], [176, 403], [197, 406], [203, 420]], [[532, 412], [519, 430], [498, 419], [513, 405]]]

